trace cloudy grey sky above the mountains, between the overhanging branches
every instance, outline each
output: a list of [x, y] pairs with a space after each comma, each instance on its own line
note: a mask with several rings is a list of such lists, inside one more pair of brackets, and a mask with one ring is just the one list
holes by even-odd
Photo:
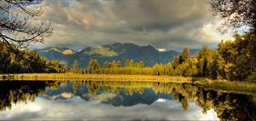
[[232, 37], [217, 31], [221, 20], [208, 0], [44, 0], [42, 9], [40, 19], [52, 22], [54, 34], [36, 48], [136, 43], [200, 49]]

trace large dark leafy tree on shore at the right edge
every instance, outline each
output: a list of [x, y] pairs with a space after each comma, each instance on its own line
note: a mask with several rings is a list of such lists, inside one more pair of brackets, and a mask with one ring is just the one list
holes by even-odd
[[235, 34], [234, 41], [221, 42], [218, 53], [229, 68], [231, 80], [244, 80], [256, 71], [256, 37], [254, 34]]

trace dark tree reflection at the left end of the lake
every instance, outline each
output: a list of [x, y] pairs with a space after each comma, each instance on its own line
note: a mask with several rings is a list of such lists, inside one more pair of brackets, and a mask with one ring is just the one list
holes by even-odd
[[47, 88], [55, 88], [54, 82], [0, 82], [0, 111], [11, 108], [12, 102], [34, 101]]

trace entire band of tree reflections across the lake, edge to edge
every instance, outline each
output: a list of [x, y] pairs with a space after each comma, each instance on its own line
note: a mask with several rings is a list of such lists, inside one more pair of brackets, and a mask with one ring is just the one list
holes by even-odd
[[[67, 86], [68, 82], [1, 82], [0, 83], [0, 110], [11, 107], [11, 103], [18, 101], [33, 101], [37, 95], [44, 94], [46, 88], [56, 89], [60, 85]], [[189, 101], [207, 112], [214, 109], [218, 118], [224, 120], [255, 120], [254, 95], [241, 95], [215, 90], [207, 90], [191, 84], [153, 83], [153, 82], [113, 82], [113, 81], [78, 81], [72, 83], [73, 93], [77, 93], [79, 85], [84, 85], [90, 95], [102, 93], [125, 95], [144, 94], [145, 89], [153, 89], [155, 94], [165, 93], [173, 96], [181, 103], [183, 109], [189, 108]], [[85, 87], [84, 87], [85, 88]]]

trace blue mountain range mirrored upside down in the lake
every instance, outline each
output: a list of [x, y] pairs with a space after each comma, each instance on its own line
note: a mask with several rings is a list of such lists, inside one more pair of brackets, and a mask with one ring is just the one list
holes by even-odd
[[79, 96], [85, 101], [99, 101], [102, 103], [112, 104], [113, 106], [134, 106], [137, 104], [150, 105], [158, 99], [172, 99], [172, 95], [165, 93], [155, 93], [153, 89], [143, 89], [143, 92], [131, 92], [128, 94], [125, 89], [120, 89], [116, 94], [103, 92], [101, 87], [96, 95], [91, 95], [86, 85], [79, 85], [77, 92], [73, 94], [73, 83], [61, 86], [59, 89], [49, 89], [44, 97], [50, 100], [68, 99], [73, 95]]

